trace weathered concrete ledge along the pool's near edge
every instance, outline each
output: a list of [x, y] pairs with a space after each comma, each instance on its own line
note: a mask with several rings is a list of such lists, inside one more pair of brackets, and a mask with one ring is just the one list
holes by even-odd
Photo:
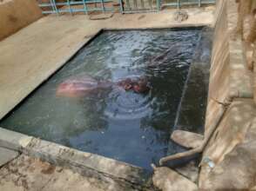
[[55, 165], [73, 168], [81, 174], [101, 174], [136, 185], [145, 185], [151, 175], [145, 169], [122, 161], [85, 153], [4, 128], [0, 128], [0, 146], [22, 151]]

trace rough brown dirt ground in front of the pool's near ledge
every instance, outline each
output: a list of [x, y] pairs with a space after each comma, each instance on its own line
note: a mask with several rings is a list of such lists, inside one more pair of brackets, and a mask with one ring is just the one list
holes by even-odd
[[0, 190], [134, 190], [118, 184], [109, 177], [85, 177], [71, 169], [52, 166], [48, 162], [19, 155], [0, 168]]

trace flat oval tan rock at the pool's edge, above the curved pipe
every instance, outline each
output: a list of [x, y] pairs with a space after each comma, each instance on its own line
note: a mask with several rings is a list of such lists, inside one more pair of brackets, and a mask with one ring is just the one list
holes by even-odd
[[185, 148], [198, 148], [203, 143], [204, 136], [184, 130], [175, 130], [171, 139]]

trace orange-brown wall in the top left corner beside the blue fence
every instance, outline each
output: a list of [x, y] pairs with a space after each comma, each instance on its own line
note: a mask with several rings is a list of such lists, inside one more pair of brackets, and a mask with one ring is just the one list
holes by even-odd
[[0, 1], [0, 41], [42, 17], [36, 0]]

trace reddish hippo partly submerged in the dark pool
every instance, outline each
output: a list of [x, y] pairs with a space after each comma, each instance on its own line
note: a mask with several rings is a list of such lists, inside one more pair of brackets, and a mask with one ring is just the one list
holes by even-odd
[[133, 90], [136, 93], [146, 93], [150, 89], [146, 78], [125, 78], [118, 82], [98, 81], [85, 74], [73, 76], [61, 82], [56, 91], [57, 96], [83, 97], [98, 93], [99, 90], [121, 88], [125, 91]]

